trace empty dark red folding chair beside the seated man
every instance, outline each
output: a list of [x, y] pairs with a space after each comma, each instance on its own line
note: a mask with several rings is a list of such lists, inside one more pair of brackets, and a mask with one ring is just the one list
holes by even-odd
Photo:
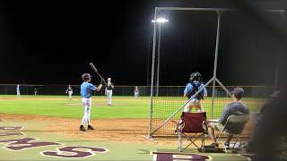
[[[204, 151], [204, 137], [208, 133], [206, 126], [206, 113], [185, 113], [181, 114], [180, 120], [177, 125], [176, 133], [178, 133], [178, 148], [182, 152], [190, 145], [195, 145], [196, 148]], [[183, 137], [187, 141], [182, 144]], [[200, 147], [196, 145], [196, 140], [201, 140]], [[184, 148], [183, 146], [190, 141]]]

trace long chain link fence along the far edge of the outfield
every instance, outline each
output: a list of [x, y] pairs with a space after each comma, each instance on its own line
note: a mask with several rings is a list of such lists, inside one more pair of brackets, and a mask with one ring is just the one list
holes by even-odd
[[[17, 84], [0, 84], [0, 95], [16, 95]], [[37, 95], [65, 95], [67, 85], [28, 85], [20, 84], [20, 92], [22, 95], [34, 95], [37, 90]], [[140, 96], [151, 96], [150, 86], [137, 86]], [[236, 86], [226, 86], [230, 91]], [[245, 97], [268, 97], [274, 90], [274, 87], [267, 86], [240, 86], [245, 89]], [[75, 96], [80, 95], [80, 85], [72, 85]], [[134, 96], [135, 86], [115, 86], [113, 89], [114, 96]], [[181, 97], [185, 86], [160, 86], [159, 97]], [[212, 96], [212, 87], [207, 87], [208, 96]], [[95, 92], [94, 95], [104, 95], [105, 90]], [[216, 97], [228, 97], [227, 93], [221, 89], [216, 88]]]

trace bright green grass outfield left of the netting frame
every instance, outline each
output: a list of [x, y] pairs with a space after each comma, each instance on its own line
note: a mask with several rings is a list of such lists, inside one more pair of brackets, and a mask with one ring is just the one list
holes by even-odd
[[[81, 97], [69, 100], [65, 96], [0, 96], [0, 113], [37, 114], [45, 116], [83, 117]], [[148, 118], [148, 97], [113, 97], [113, 106], [107, 106], [106, 97], [92, 97], [91, 118]]]

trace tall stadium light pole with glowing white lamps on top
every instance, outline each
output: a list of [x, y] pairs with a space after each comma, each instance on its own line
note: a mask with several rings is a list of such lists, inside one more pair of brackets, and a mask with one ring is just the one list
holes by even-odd
[[168, 19], [158, 18], [156, 21], [152, 20], [153, 23], [159, 23], [159, 45], [158, 45], [158, 65], [157, 65], [157, 80], [156, 80], [156, 96], [159, 96], [159, 86], [160, 86], [160, 54], [161, 54], [161, 24], [168, 22]]

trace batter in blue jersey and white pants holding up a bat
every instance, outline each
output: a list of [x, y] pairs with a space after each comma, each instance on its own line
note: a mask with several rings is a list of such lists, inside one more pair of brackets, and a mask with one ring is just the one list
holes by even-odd
[[[87, 131], [87, 130], [94, 130], [94, 128], [90, 124], [90, 115], [91, 115], [91, 95], [94, 90], [100, 91], [102, 84], [106, 84], [104, 79], [100, 80], [100, 85], [95, 87], [90, 83], [91, 81], [91, 75], [90, 73], [83, 73], [82, 75], [83, 83], [81, 85], [81, 97], [84, 107], [84, 114], [82, 123], [80, 126], [80, 131]], [[84, 128], [83, 125], [87, 123], [88, 128]]]

